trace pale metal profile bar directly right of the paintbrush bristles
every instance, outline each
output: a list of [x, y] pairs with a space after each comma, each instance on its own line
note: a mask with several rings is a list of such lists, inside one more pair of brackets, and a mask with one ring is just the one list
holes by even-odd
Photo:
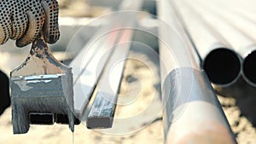
[[[138, 10], [141, 7], [142, 1], [135, 3], [124, 0], [119, 5], [119, 11]], [[117, 12], [105, 17], [102, 29], [84, 46], [84, 49], [69, 65], [73, 67], [74, 109], [78, 118], [83, 118], [84, 110], [90, 101], [96, 83], [108, 62], [109, 56], [113, 53], [113, 45], [119, 40], [121, 33], [118, 30], [129, 27], [133, 16]], [[125, 19], [123, 19], [124, 17]], [[106, 36], [106, 34], [108, 35]]]

